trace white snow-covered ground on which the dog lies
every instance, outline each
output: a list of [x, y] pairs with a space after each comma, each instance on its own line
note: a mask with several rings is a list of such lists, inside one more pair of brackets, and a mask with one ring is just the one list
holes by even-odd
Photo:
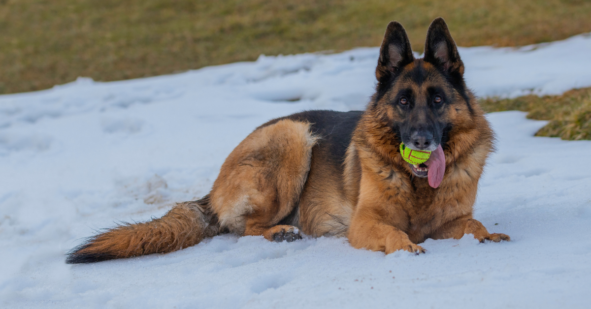
[[[480, 96], [591, 86], [591, 37], [461, 48]], [[304, 109], [362, 109], [377, 48], [260, 57], [170, 76], [0, 96], [0, 306], [7, 308], [589, 308], [591, 141], [533, 137], [489, 115], [498, 152], [476, 219], [511, 242], [427, 240], [424, 255], [346, 239], [222, 235], [166, 255], [66, 265], [119, 220], [206, 194], [259, 124]]]

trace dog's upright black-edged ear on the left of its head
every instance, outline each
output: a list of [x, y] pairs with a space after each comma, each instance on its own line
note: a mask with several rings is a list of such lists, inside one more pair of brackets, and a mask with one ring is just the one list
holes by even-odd
[[378, 66], [375, 77], [379, 82], [396, 72], [400, 67], [413, 62], [413, 50], [404, 27], [397, 21], [391, 21], [386, 28], [382, 47], [379, 48]]

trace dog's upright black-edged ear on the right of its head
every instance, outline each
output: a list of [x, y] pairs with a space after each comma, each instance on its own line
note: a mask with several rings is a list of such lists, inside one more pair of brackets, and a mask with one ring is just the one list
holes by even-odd
[[456, 43], [441, 17], [437, 17], [431, 22], [427, 31], [425, 61], [447, 73], [464, 74], [464, 63], [457, 52]]

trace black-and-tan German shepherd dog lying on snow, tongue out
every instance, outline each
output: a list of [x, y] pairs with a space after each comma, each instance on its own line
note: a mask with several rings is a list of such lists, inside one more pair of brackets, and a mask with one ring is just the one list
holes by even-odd
[[[220, 233], [288, 242], [346, 236], [355, 248], [424, 253], [427, 238], [509, 240], [473, 219], [493, 132], [463, 79], [464, 64], [443, 18], [415, 59], [406, 31], [388, 24], [376, 92], [366, 110], [310, 110], [259, 126], [226, 158], [203, 199], [150, 222], [86, 239], [67, 263], [165, 253]], [[432, 151], [405, 162], [400, 144]]]

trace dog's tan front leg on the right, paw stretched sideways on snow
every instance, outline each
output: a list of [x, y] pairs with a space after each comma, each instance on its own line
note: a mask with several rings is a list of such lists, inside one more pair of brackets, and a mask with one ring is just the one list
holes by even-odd
[[488, 230], [486, 230], [486, 227], [484, 227], [482, 223], [480, 223], [480, 221], [472, 219], [471, 214], [459, 217], [455, 220], [452, 220], [444, 224], [435, 233], [433, 233], [433, 235], [431, 235], [431, 238], [460, 239], [465, 234], [474, 235], [474, 238], [478, 239], [480, 242], [484, 242], [485, 240], [492, 240], [493, 242], [500, 242], [501, 240], [511, 240], [511, 238], [505, 234], [489, 233]]

